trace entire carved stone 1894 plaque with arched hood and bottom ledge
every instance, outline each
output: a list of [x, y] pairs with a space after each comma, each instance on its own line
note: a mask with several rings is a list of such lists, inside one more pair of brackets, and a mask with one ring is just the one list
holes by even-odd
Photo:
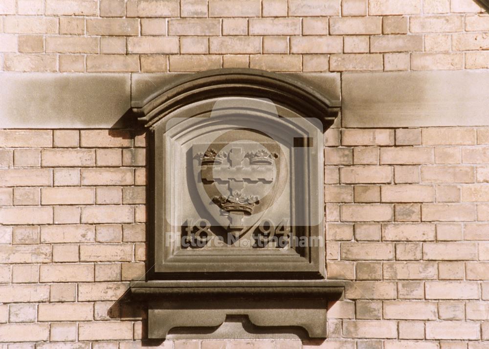
[[[324, 236], [322, 132], [338, 115], [339, 101], [284, 74], [222, 69], [185, 75], [152, 93], [141, 105], [133, 108], [133, 112], [147, 128], [149, 140], [148, 273], [146, 281], [131, 283], [131, 294], [148, 303], [148, 338], [166, 338], [169, 332], [188, 328], [215, 329], [227, 316], [247, 317], [252, 325], [264, 331], [283, 333], [284, 328], [302, 328], [306, 337], [325, 337], [328, 302], [341, 299], [344, 283], [325, 279], [324, 245], [245, 249], [233, 246], [233, 242], [224, 248], [184, 248], [181, 236], [186, 225], [182, 218], [193, 214], [189, 212], [201, 214], [204, 208], [207, 209], [204, 216], [219, 223], [217, 228], [228, 235], [235, 234], [244, 218], [229, 218], [229, 227], [228, 223], [222, 225], [222, 217], [216, 215], [219, 205], [212, 206], [209, 200], [215, 193], [210, 195], [194, 186], [205, 188], [204, 182], [213, 181], [214, 177], [205, 177], [212, 171], [221, 171], [216, 182], [237, 185], [233, 181], [238, 179], [233, 176], [253, 177], [253, 173], [246, 172], [249, 167], [260, 175], [250, 179], [251, 184], [246, 186], [271, 182], [264, 186], [271, 188], [274, 200], [278, 197], [277, 201], [269, 201], [275, 207], [257, 206], [256, 210], [264, 212], [258, 219], [274, 218], [273, 212], [283, 211], [290, 213], [286, 216], [290, 224], [284, 227], [284, 232], [289, 232], [284, 233], [287, 238]], [[275, 115], [270, 114], [270, 106]], [[304, 123], [290, 121], [292, 118]], [[313, 124], [307, 118], [320, 123]], [[268, 126], [268, 134], [253, 131], [259, 130], [255, 126], [261, 124]], [[229, 131], [231, 126], [236, 128]], [[316, 140], [309, 135], [317, 137]], [[225, 151], [228, 158], [222, 155], [217, 161], [220, 151], [230, 143], [232, 147]], [[221, 148], [216, 152], [215, 147]], [[301, 155], [302, 159], [297, 154], [306, 155]], [[251, 160], [244, 160], [245, 156]], [[205, 161], [199, 163], [196, 158]], [[231, 158], [232, 161], [226, 160]], [[233, 162], [241, 163], [238, 170], [242, 172], [231, 171]], [[196, 173], [202, 176], [196, 177], [195, 182], [191, 173], [194, 165], [200, 166]], [[210, 172], [209, 166], [214, 167]], [[263, 172], [265, 166], [275, 169]], [[228, 170], [233, 175], [223, 178], [222, 171]], [[283, 196], [280, 186], [287, 187]], [[233, 195], [254, 198], [249, 193], [234, 194], [229, 190], [230, 198]], [[282, 197], [286, 198], [283, 202]], [[252, 200], [253, 207], [266, 202], [266, 196], [261, 201]], [[246, 204], [239, 200], [233, 203], [236, 207], [232, 210]], [[247, 207], [243, 211], [250, 215], [254, 209]], [[221, 211], [221, 215], [227, 217], [228, 212]], [[246, 236], [252, 241], [250, 236], [256, 233], [257, 222], [246, 223], [240, 238]], [[200, 225], [192, 228], [202, 232]], [[191, 229], [189, 235], [190, 232]], [[179, 239], [169, 238], [169, 234]]]

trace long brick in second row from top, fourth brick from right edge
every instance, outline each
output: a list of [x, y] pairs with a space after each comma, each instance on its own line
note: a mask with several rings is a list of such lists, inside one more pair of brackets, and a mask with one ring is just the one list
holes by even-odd
[[333, 17], [330, 34], [369, 35], [382, 33], [382, 17]]

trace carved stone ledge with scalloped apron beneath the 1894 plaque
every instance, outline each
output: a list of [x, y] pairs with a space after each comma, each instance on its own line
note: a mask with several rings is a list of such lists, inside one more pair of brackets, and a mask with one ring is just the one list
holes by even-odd
[[148, 337], [170, 330], [215, 330], [226, 317], [245, 316], [264, 329], [300, 327], [325, 338], [328, 302], [343, 298], [345, 282], [327, 280], [133, 281], [133, 297], [148, 302]]

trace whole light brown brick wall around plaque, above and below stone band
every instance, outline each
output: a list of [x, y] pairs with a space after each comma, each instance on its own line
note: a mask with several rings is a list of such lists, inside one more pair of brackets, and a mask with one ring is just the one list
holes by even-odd
[[[0, 0], [0, 67], [489, 68], [479, 12], [471, 0]], [[328, 278], [355, 281], [329, 339], [160, 348], [489, 348], [489, 128], [335, 127], [325, 142]], [[154, 345], [143, 314], [116, 303], [145, 270], [145, 184], [142, 135], [0, 130], [0, 349]]]

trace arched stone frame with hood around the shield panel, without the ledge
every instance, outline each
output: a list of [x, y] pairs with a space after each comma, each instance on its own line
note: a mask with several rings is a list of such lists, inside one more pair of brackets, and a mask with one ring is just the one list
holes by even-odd
[[[227, 97], [226, 106], [219, 111], [213, 110], [216, 101], [222, 97]], [[153, 166], [150, 171], [153, 177], [151, 183], [155, 188], [151, 195], [153, 209], [149, 219], [153, 223], [149, 225], [150, 237], [154, 237], [150, 245], [153, 246], [150, 266], [154, 264], [154, 269], [149, 270], [151, 279], [195, 279], [196, 277], [199, 279], [320, 279], [325, 276], [324, 246], [297, 247], [296, 253], [289, 254], [255, 250], [249, 256], [237, 256], [236, 251], [229, 254], [222, 252], [216, 254], [212, 249], [203, 251], [180, 249], [178, 241], [170, 244], [167, 241], [168, 234], [163, 233], [179, 229], [179, 226], [169, 227], [172, 224], [168, 222], [167, 217], [181, 214], [182, 212], [174, 210], [178, 210], [184, 204], [180, 201], [180, 191], [184, 190], [182, 186], [185, 186], [185, 183], [181, 183], [180, 178], [177, 177], [183, 175], [181, 168], [185, 166], [185, 163], [182, 163], [185, 154], [179, 152], [179, 147], [183, 147], [181, 144], [186, 144], [202, 133], [211, 132], [214, 128], [222, 126], [217, 125], [213, 118], [206, 116], [211, 112], [226, 114], [235, 113], [240, 109], [242, 118], [251, 124], [259, 123], [262, 118], [267, 117], [267, 111], [260, 110], [262, 106], [257, 106], [256, 103], [252, 108], [242, 111], [243, 108], [239, 105], [239, 98], [242, 97], [266, 97], [275, 103], [280, 118], [315, 117], [320, 120], [323, 130], [333, 123], [338, 112], [337, 102], [330, 101], [327, 96], [317, 93], [302, 82], [283, 74], [246, 69], [212, 70], [185, 76], [172, 86], [154, 93], [142, 108], [135, 109], [134, 111], [139, 115], [138, 120], [145, 124], [151, 136], [150, 163]], [[184, 124], [179, 122], [180, 119], [191, 120], [195, 116], [198, 116], [197, 127], [192, 128], [191, 121], [190, 126], [189, 122], [179, 126]], [[307, 137], [304, 136], [307, 130], [304, 132], [292, 130], [290, 128], [294, 125], [280, 123], [279, 118], [276, 119], [277, 132], [274, 137], [279, 138], [287, 133], [290, 139]], [[172, 122], [179, 125], [169, 127], [169, 123]], [[224, 125], [223, 128], [227, 126]], [[203, 131], [204, 128], [208, 130]], [[291, 164], [292, 168], [303, 166], [298, 176], [302, 175], [305, 179], [298, 178], [298, 180], [302, 180], [304, 187], [297, 188], [297, 192], [309, 193], [311, 196], [304, 198], [304, 207], [295, 209], [311, 209], [313, 212], [304, 211], [300, 214], [322, 217], [324, 195], [319, 189], [323, 187], [324, 182], [322, 154], [315, 155], [317, 159], [309, 159], [309, 161], [316, 163], [310, 163], [309, 166], [302, 163]], [[172, 191], [172, 188], [176, 190]], [[317, 195], [313, 195], [316, 194], [315, 191]], [[199, 199], [194, 197], [193, 200]], [[306, 201], [310, 204], [307, 205]], [[319, 221], [319, 224], [311, 226], [301, 224], [298, 228], [302, 231], [300, 234], [324, 236], [323, 220]], [[299, 249], [301, 251], [298, 251]]]

